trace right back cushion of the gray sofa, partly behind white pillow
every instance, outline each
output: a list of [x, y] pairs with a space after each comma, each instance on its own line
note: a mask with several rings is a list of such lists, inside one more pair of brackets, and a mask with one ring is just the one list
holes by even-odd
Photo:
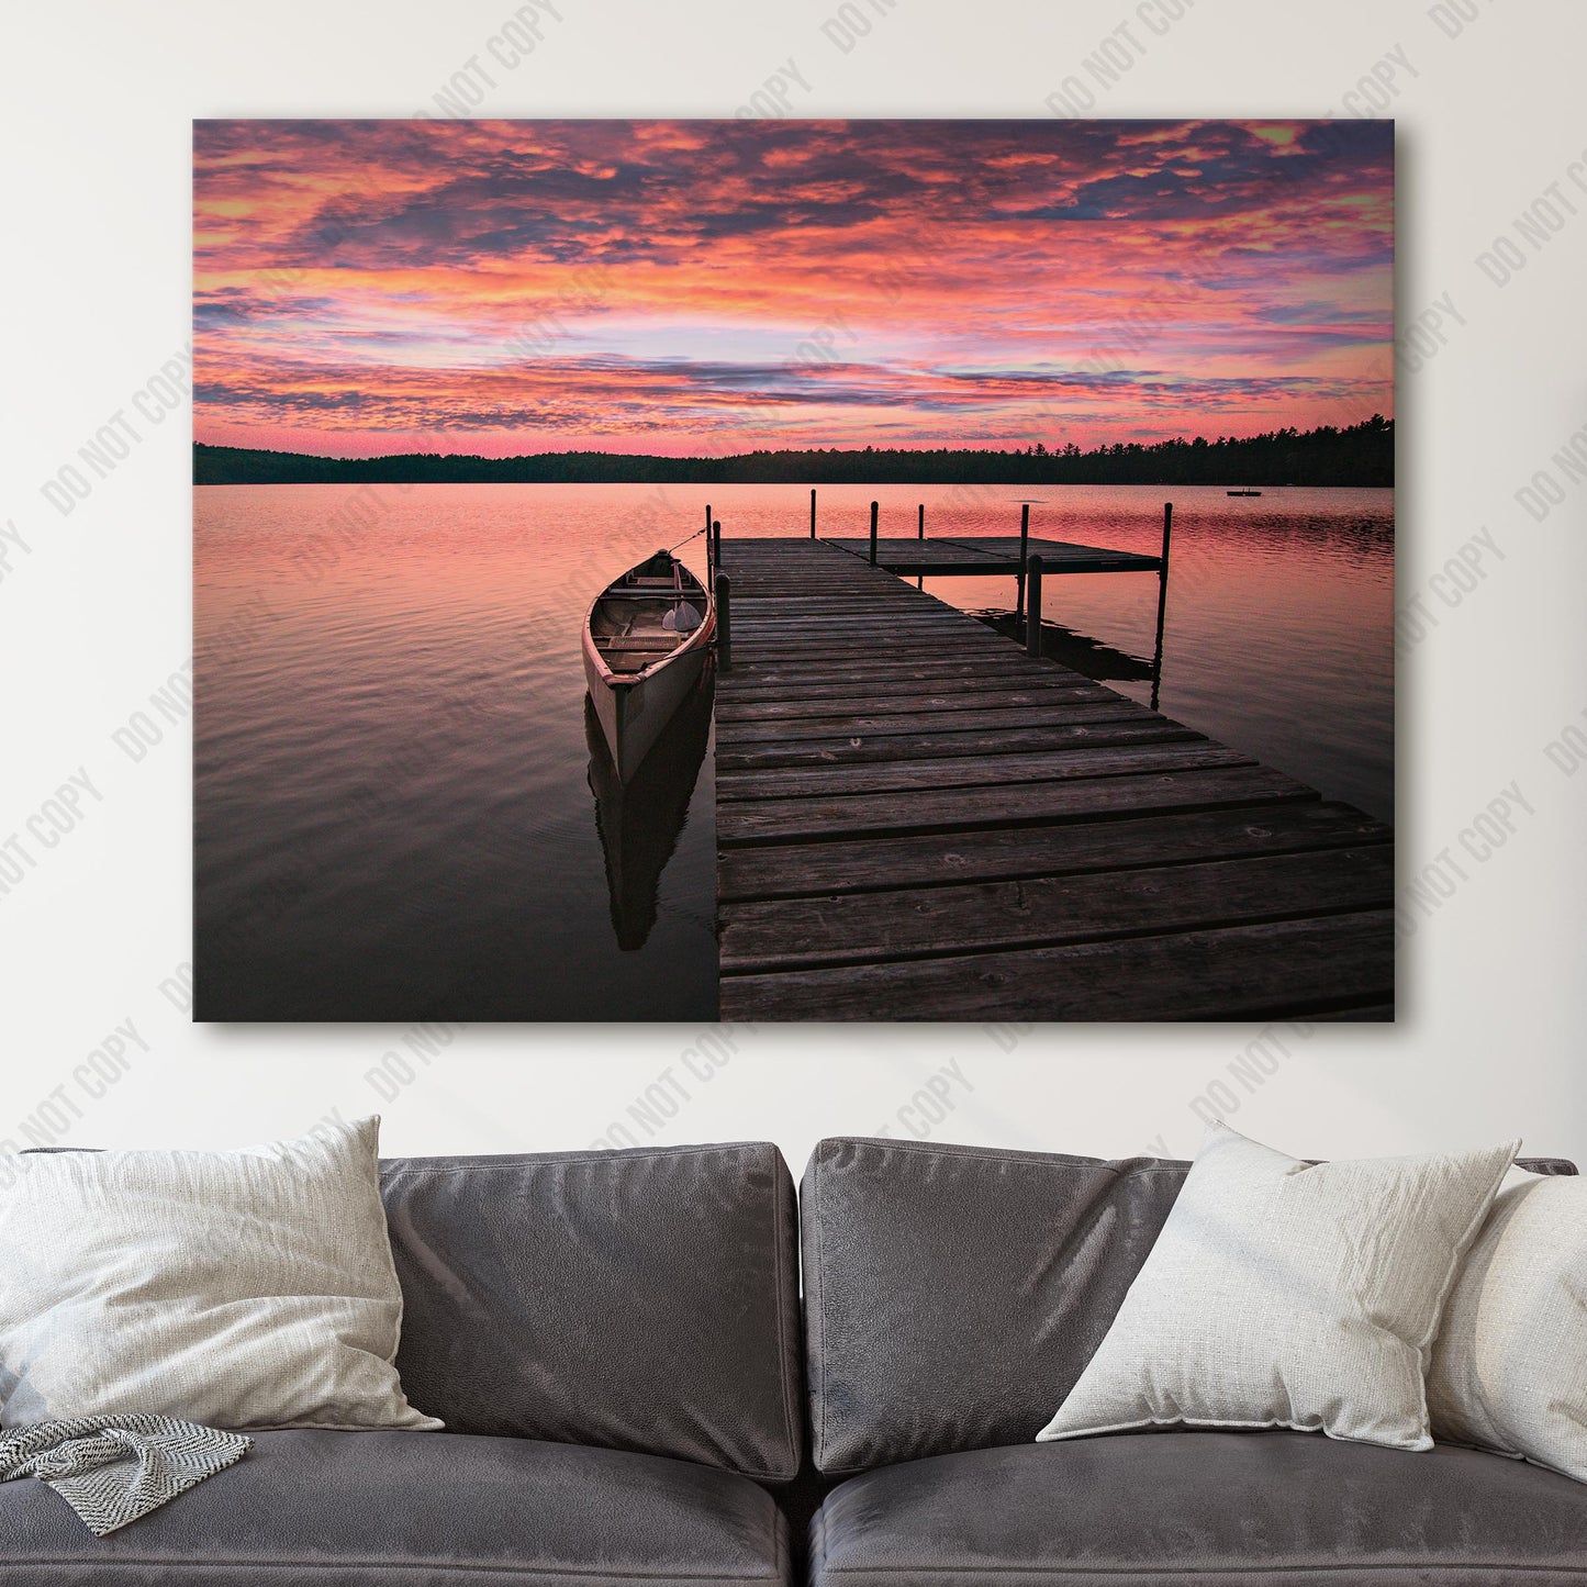
[[1112, 1324], [1187, 1168], [822, 1141], [801, 1187], [820, 1471], [1033, 1439]]

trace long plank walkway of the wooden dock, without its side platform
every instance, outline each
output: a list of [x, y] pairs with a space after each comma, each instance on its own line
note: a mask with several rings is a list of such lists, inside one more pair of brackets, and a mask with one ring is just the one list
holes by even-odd
[[724, 1019], [1393, 1017], [1389, 827], [852, 544], [720, 571]]

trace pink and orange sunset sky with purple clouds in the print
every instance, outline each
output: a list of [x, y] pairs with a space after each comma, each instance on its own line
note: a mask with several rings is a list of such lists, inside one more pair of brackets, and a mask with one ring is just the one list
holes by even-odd
[[195, 436], [1027, 446], [1393, 413], [1389, 122], [195, 125]]

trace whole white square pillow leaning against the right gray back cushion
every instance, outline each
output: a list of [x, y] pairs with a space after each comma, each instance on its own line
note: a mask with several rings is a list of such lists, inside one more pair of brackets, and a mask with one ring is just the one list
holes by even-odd
[[1431, 1447], [1427, 1352], [1519, 1144], [1308, 1165], [1211, 1125], [1119, 1316], [1036, 1436], [1184, 1424]]

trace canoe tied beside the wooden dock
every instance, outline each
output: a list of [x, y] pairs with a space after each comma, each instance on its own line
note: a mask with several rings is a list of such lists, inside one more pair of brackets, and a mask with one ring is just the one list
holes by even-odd
[[584, 619], [584, 679], [624, 782], [700, 681], [714, 635], [711, 592], [668, 551], [595, 597]]

